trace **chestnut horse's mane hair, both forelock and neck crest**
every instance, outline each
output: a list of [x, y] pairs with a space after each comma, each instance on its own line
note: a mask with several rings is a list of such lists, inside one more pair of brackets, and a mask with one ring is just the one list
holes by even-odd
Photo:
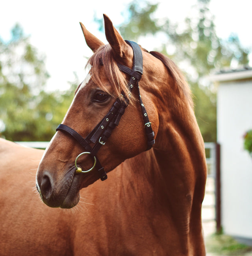
[[[146, 51], [145, 49], [143, 50]], [[185, 95], [185, 97], [189, 101], [189, 104], [191, 105], [191, 107], [193, 107], [191, 90], [178, 66], [176, 66], [176, 64], [170, 58], [163, 55], [162, 53], [156, 51], [151, 51], [149, 53], [157, 59], [161, 60], [161, 62], [163, 62], [179, 91]], [[95, 51], [93, 56], [89, 58], [86, 67], [87, 66], [91, 66], [89, 74], [91, 75], [94, 83], [96, 83], [96, 85], [98, 85], [102, 90], [111, 95], [107, 85], [104, 85], [104, 83], [102, 83], [100, 77], [101, 70], [104, 71], [109, 81], [109, 84], [113, 88], [114, 95], [111, 96], [119, 97], [122, 92], [124, 92], [125, 95], [128, 94], [128, 81], [123, 73], [119, 70], [117, 62], [113, 56], [113, 50], [109, 44], [99, 47]], [[131, 97], [130, 100], [134, 100], [134, 98]]]

